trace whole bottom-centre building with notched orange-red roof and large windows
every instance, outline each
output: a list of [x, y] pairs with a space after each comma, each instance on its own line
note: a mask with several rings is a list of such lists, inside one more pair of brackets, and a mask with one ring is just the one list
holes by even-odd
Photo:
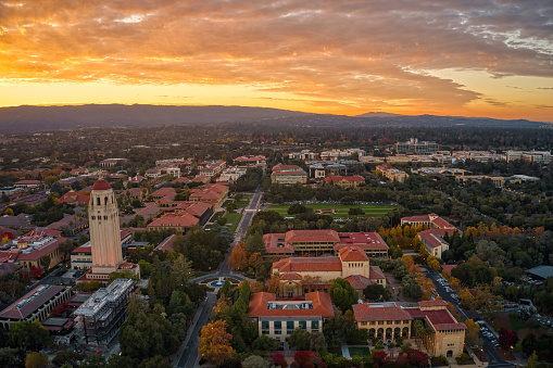
[[260, 335], [285, 341], [297, 328], [323, 332], [323, 322], [334, 317], [334, 309], [324, 292], [307, 293], [303, 301], [277, 301], [276, 294], [261, 292], [252, 294], [248, 314], [257, 322]]

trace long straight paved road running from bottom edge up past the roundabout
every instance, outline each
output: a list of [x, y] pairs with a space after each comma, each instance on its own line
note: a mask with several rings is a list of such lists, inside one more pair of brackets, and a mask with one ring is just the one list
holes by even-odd
[[[253, 216], [257, 213], [260, 208], [261, 198], [263, 196], [263, 192], [260, 188], [253, 194], [250, 204], [243, 211], [242, 219], [235, 231], [235, 241], [232, 242], [227, 255], [225, 256], [225, 261], [223, 261], [219, 267], [205, 276], [199, 277], [193, 281], [198, 282], [199, 280], [203, 280], [212, 277], [225, 277], [230, 276], [239, 279], [243, 279], [243, 277], [239, 275], [235, 275], [232, 269], [228, 265], [228, 258], [230, 257], [230, 252], [232, 248], [242, 240], [248, 227], [251, 224]], [[209, 293], [205, 303], [203, 303], [198, 309], [192, 323], [192, 330], [188, 332], [187, 340], [183, 343], [179, 348], [179, 358], [173, 364], [174, 367], [194, 367], [196, 364], [200, 360], [200, 354], [198, 353], [199, 346], [199, 337], [200, 330], [203, 326], [208, 325], [210, 319], [211, 310], [217, 304], [217, 296], [214, 293]]]

